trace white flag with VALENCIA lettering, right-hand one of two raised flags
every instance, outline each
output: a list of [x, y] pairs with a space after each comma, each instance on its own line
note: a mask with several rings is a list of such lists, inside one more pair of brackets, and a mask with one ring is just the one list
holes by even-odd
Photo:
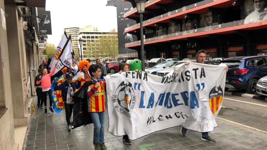
[[75, 60], [72, 58], [73, 49], [72, 49], [72, 43], [70, 39], [71, 37], [69, 36], [66, 42], [66, 45], [64, 46], [61, 52], [61, 55], [59, 56], [59, 60], [64, 66], [70, 68], [71, 72], [73, 72], [74, 75], [76, 75], [78, 72], [78, 65], [75, 62]]

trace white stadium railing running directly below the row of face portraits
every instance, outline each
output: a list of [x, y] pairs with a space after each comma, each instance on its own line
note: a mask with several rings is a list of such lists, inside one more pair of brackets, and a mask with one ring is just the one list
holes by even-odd
[[[219, 24], [219, 25], [212, 25], [212, 26], [208, 26], [208, 27], [197, 28], [197, 29], [192, 29], [192, 30], [188, 30], [188, 31], [157, 36], [157, 37], [153, 37], [153, 38], [147, 38], [147, 39], [144, 39], [144, 42], [155, 41], [155, 40], [159, 40], [159, 39], [171, 38], [171, 37], [175, 37], [175, 36], [187, 35], [187, 34], [198, 33], [198, 32], [216, 30], [216, 29], [220, 29], [220, 28], [228, 28], [228, 27], [233, 27], [233, 26], [238, 26], [238, 25], [245, 25], [245, 24], [261, 22], [261, 21], [265, 21], [265, 20], [267, 20], [267, 16], [260, 16], [257, 18], [246, 19], [246, 20], [245, 19], [244, 20], [238, 20], [238, 21], [223, 23], [223, 24]], [[138, 44], [138, 43], [140, 43], [140, 41], [134, 41], [134, 42], [126, 43], [125, 46]]]

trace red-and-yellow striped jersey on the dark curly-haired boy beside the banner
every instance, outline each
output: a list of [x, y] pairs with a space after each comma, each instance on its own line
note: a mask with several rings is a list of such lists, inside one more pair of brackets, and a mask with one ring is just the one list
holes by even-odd
[[95, 84], [91, 84], [88, 87], [87, 94], [89, 96], [88, 112], [103, 112], [106, 110], [105, 105], [105, 87], [106, 82], [103, 79], [99, 79], [99, 87], [96, 88]]

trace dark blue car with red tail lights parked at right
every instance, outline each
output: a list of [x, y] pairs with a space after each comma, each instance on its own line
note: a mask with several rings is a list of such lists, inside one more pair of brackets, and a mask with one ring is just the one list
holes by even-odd
[[220, 61], [227, 65], [225, 90], [229, 88], [246, 89], [249, 94], [256, 93], [260, 78], [267, 75], [267, 56], [240, 56]]

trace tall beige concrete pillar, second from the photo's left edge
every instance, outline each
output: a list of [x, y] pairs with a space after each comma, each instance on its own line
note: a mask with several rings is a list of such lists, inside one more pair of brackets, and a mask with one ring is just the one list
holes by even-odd
[[[8, 54], [12, 56], [9, 59], [10, 76], [12, 78], [12, 102], [13, 102], [13, 115], [15, 127], [28, 125], [27, 113], [27, 79], [25, 80], [25, 44], [23, 29], [21, 28], [21, 18], [18, 17], [18, 12], [14, 5], [6, 5], [6, 13], [8, 19], [6, 24], [7, 38], [8, 38]], [[12, 18], [12, 19], [11, 19]]]

